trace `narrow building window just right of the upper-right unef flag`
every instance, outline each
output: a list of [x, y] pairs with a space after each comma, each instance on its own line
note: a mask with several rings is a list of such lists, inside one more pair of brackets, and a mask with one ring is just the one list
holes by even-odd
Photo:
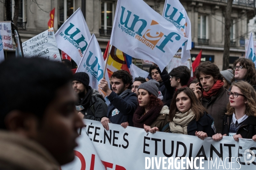
[[198, 14], [198, 38], [208, 39], [208, 16]]

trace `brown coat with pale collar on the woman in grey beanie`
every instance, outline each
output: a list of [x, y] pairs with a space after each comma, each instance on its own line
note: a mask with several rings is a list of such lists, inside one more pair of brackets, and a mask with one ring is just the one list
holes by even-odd
[[[150, 127], [158, 127], [159, 131], [163, 132], [169, 132], [170, 126], [169, 126], [169, 109], [168, 106], [163, 106], [162, 110], [159, 113], [159, 116], [157, 119], [150, 125]], [[163, 129], [165, 125], [167, 125], [166, 128]]]

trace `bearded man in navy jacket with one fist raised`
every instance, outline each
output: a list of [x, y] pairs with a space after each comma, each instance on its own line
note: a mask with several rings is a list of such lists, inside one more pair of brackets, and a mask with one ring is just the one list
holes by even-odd
[[137, 94], [131, 92], [131, 74], [124, 70], [113, 72], [111, 85], [112, 91], [105, 79], [102, 79], [99, 85], [110, 101], [107, 117], [101, 119], [103, 127], [109, 130], [108, 123], [110, 122], [119, 125], [128, 122], [130, 126], [133, 126], [132, 118], [138, 106], [138, 98]]

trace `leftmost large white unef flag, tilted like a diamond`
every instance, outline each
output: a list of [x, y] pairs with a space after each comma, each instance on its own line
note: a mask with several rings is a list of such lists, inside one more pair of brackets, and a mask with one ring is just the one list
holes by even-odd
[[72, 14], [55, 34], [58, 48], [79, 65], [91, 38], [80, 8]]

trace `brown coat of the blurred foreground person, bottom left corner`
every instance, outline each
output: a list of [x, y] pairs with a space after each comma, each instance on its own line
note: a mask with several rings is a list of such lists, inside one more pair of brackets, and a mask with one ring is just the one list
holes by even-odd
[[0, 170], [59, 170], [58, 162], [40, 144], [0, 130]]

